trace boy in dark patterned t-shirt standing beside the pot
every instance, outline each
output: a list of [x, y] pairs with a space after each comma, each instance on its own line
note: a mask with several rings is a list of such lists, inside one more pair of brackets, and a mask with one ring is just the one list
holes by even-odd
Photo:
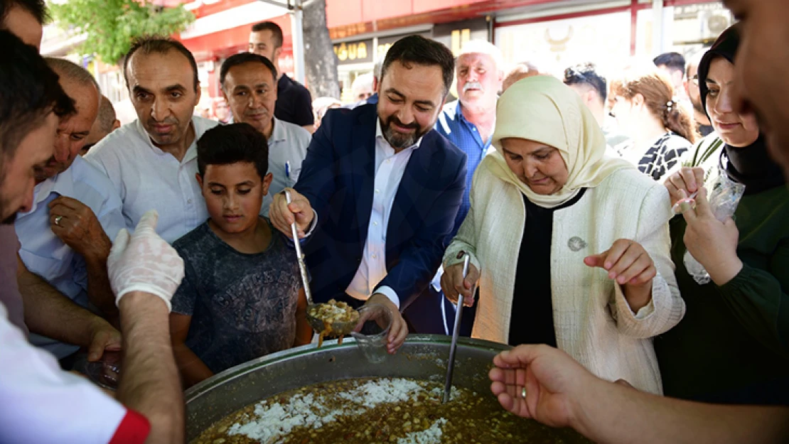
[[312, 339], [296, 253], [259, 216], [271, 184], [265, 136], [245, 123], [209, 129], [197, 168], [210, 218], [173, 244], [185, 277], [170, 334], [185, 386]]

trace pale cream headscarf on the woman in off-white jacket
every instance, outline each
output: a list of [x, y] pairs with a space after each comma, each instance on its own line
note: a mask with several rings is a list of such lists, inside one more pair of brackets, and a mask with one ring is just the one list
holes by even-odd
[[[581, 97], [555, 77], [535, 76], [507, 88], [496, 106], [492, 144], [496, 152], [483, 163], [540, 207], [553, 208], [572, 199], [581, 188], [600, 185], [616, 170], [634, 168], [623, 159], [604, 157], [605, 137]], [[533, 192], [507, 166], [501, 140], [533, 140], [555, 147], [567, 164], [567, 183], [552, 195]]]

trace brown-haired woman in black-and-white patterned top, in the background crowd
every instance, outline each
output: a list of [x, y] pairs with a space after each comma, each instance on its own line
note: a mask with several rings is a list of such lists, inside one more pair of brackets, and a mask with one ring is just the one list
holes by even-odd
[[619, 153], [660, 181], [697, 138], [693, 118], [674, 99], [674, 88], [655, 68], [630, 69], [611, 82], [611, 115], [632, 143]]

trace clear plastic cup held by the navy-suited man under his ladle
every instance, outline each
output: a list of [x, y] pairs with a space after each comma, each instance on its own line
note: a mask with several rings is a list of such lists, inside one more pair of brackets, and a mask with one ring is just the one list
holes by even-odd
[[359, 323], [351, 336], [370, 364], [387, 360], [387, 336], [392, 325], [392, 313], [380, 304], [365, 304], [358, 310]]

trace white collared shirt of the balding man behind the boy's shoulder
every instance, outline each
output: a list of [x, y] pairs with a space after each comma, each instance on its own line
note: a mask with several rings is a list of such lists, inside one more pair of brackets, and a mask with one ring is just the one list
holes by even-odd
[[172, 243], [208, 219], [197, 173], [197, 140], [219, 122], [193, 116], [195, 140], [181, 162], [151, 142], [140, 120], [111, 132], [85, 159], [110, 177], [133, 230], [148, 210], [159, 212], [156, 233]]

